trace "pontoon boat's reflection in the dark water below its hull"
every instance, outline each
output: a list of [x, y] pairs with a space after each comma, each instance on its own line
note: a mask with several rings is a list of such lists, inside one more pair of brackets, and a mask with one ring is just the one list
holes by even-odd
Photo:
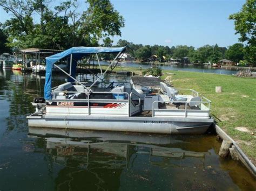
[[208, 150], [211, 149], [210, 146], [197, 147], [193, 151], [189, 137], [170, 135], [44, 128], [29, 128], [29, 135], [45, 137], [46, 153], [52, 155], [55, 162], [67, 165], [69, 160], [76, 160], [85, 168], [91, 163], [106, 165], [107, 168], [124, 168], [129, 166], [134, 154], [146, 155], [153, 163], [163, 162], [156, 161], [154, 157], [177, 160], [192, 157], [204, 166], [205, 155], [210, 154]]

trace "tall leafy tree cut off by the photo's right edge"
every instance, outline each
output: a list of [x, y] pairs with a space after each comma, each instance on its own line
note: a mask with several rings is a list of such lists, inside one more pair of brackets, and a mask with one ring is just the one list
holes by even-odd
[[245, 43], [245, 59], [256, 66], [256, 3], [247, 0], [238, 13], [230, 15], [234, 20], [235, 32], [240, 34], [239, 41]]

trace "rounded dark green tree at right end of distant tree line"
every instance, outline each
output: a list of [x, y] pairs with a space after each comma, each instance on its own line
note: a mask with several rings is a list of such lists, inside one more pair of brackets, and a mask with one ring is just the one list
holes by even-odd
[[232, 46], [228, 47], [225, 57], [228, 60], [232, 60], [233, 62], [239, 62], [240, 60], [244, 60], [244, 45], [241, 43], [235, 43]]

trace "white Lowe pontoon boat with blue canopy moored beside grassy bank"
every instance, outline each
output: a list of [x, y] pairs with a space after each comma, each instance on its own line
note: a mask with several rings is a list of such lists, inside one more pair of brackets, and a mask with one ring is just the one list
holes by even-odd
[[[73, 47], [46, 58], [44, 98], [32, 105], [29, 126], [43, 128], [129, 131], [148, 133], [205, 133], [214, 119], [211, 101], [191, 89], [175, 89], [156, 77], [131, 77], [130, 82], [104, 82], [108, 69], [118, 64], [125, 47]], [[103, 72], [98, 54], [116, 53]], [[76, 79], [77, 61], [89, 54], [98, 59], [100, 74], [93, 83]], [[55, 63], [70, 60], [69, 72]], [[69, 76], [51, 87], [53, 66]], [[99, 83], [100, 81], [100, 83]], [[104, 83], [104, 86], [101, 84]]]

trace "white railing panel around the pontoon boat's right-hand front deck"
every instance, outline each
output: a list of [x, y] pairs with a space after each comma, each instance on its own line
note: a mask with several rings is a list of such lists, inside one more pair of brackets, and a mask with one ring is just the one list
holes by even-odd
[[[157, 103], [163, 103], [163, 101], [154, 101], [152, 104], [152, 117], [209, 117], [211, 109], [211, 101], [206, 97], [201, 97], [201, 101], [165, 101], [164, 103], [183, 104], [184, 109], [159, 109], [156, 107]], [[196, 109], [188, 108], [190, 103], [198, 103]], [[199, 109], [198, 109], [199, 108]]]

